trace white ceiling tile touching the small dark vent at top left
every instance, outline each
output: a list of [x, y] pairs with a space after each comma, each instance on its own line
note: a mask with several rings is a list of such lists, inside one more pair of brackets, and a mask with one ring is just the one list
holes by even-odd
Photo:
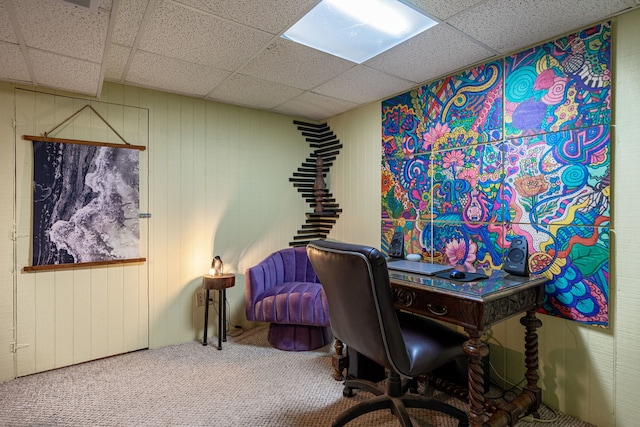
[[14, 1], [13, 5], [28, 47], [102, 62], [109, 12], [93, 13], [50, 0]]

